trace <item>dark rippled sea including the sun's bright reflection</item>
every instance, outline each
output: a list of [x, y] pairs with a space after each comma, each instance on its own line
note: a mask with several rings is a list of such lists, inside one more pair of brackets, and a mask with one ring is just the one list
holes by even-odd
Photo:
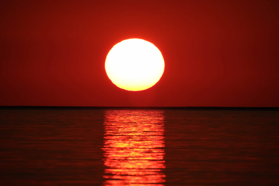
[[279, 185], [279, 111], [0, 110], [1, 185]]

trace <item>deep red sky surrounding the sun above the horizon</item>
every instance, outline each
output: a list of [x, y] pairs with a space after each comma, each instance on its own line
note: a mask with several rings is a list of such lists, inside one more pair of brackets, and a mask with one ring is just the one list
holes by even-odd
[[[276, 1], [7, 1], [0, 5], [0, 105], [279, 106]], [[165, 59], [145, 91], [104, 62], [141, 38]]]

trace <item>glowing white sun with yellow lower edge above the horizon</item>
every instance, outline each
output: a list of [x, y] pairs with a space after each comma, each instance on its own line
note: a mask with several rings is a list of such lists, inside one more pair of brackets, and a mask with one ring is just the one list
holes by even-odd
[[162, 53], [151, 42], [126, 39], [108, 52], [105, 70], [108, 78], [119, 88], [142, 91], [155, 85], [163, 75]]

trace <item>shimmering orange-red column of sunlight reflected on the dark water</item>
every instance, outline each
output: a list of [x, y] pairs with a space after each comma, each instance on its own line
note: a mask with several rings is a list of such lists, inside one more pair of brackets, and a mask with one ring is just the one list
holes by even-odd
[[104, 185], [164, 185], [164, 111], [106, 110]]

